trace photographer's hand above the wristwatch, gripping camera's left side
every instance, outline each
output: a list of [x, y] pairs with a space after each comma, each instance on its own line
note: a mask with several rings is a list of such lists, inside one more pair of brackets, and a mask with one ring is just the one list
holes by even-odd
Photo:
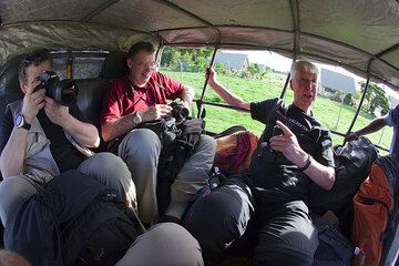
[[28, 123], [32, 123], [33, 119], [38, 115], [39, 110], [45, 105], [45, 90], [40, 89], [34, 91], [34, 88], [28, 88], [23, 96], [21, 114]]

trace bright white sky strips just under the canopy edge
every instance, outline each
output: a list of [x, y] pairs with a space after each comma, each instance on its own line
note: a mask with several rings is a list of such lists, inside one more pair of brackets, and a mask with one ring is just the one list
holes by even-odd
[[[274, 69], [277, 71], [289, 71], [289, 66], [293, 62], [291, 59], [288, 59], [283, 55], [279, 55], [277, 53], [268, 52], [268, 51], [223, 50], [223, 52], [246, 53], [246, 54], [248, 54], [249, 63], [265, 64], [265, 65], [269, 66], [270, 69]], [[352, 76], [355, 79], [357, 89], [359, 89], [358, 81], [362, 80], [366, 82], [365, 79], [362, 79], [356, 74], [352, 74], [351, 72], [349, 72], [340, 66], [335, 66], [335, 65], [329, 65], [329, 64], [320, 64], [320, 63], [316, 63], [316, 65], [318, 68], [328, 69], [328, 70], [336, 71], [341, 74]], [[399, 93], [395, 92], [387, 85], [383, 85], [383, 84], [379, 84], [379, 85], [386, 90], [386, 92], [390, 99], [393, 98], [393, 99], [391, 99], [391, 103], [392, 103], [392, 108], [395, 108], [399, 103]]]

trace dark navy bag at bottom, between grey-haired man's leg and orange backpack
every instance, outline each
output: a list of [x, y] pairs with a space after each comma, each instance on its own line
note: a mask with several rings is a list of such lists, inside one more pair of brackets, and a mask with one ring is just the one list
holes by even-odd
[[319, 215], [311, 215], [318, 231], [319, 245], [314, 255], [313, 266], [350, 266], [354, 247], [334, 226], [329, 226]]

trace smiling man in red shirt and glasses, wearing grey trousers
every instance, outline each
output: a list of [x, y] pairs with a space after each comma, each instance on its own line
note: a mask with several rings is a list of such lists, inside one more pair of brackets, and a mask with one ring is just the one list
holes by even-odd
[[[139, 214], [144, 223], [158, 219], [156, 170], [161, 153], [157, 135], [135, 129], [147, 121], [171, 116], [166, 100], [180, 98], [185, 106], [194, 90], [156, 71], [155, 49], [150, 42], [133, 44], [126, 60], [127, 76], [115, 80], [105, 94], [101, 114], [104, 141], [123, 136], [117, 154], [126, 162], [137, 190]], [[215, 154], [213, 137], [202, 135], [193, 155], [185, 162], [171, 187], [171, 204], [165, 215], [180, 219], [196, 192], [205, 185]]]

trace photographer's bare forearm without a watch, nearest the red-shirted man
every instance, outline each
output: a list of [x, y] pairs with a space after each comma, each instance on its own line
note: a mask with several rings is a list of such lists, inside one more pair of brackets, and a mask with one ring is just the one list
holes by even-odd
[[84, 123], [70, 115], [63, 129], [83, 146], [98, 147], [100, 144], [99, 131], [93, 124]]

